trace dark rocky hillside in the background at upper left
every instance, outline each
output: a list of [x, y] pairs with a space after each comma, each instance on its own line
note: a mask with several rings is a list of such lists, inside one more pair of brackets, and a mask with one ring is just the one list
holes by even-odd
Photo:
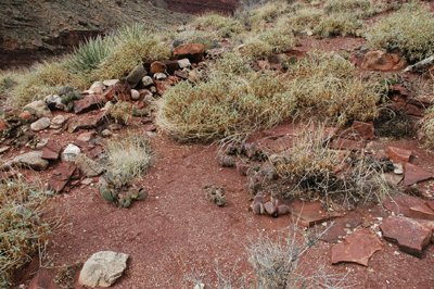
[[125, 23], [146, 22], [158, 28], [193, 18], [149, 1], [0, 1], [0, 68], [71, 52], [85, 39]]

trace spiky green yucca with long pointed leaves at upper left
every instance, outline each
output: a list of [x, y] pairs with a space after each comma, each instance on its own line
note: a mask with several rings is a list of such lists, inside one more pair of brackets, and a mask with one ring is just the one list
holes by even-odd
[[98, 36], [95, 39], [88, 39], [74, 50], [67, 65], [73, 73], [89, 76], [108, 55], [112, 46], [112, 37], [103, 39]]

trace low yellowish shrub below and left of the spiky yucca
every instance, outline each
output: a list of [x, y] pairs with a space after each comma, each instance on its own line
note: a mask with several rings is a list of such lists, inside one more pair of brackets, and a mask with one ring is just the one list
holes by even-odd
[[28, 71], [20, 73], [16, 81], [17, 85], [11, 91], [16, 108], [56, 92], [59, 86], [72, 85], [84, 88], [88, 84], [86, 78], [68, 71], [65, 60], [35, 64]]

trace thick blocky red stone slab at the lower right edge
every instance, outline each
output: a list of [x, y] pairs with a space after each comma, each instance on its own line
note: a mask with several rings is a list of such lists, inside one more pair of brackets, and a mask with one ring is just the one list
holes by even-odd
[[422, 250], [430, 243], [434, 223], [401, 216], [390, 216], [380, 225], [384, 239], [397, 242], [406, 253], [422, 257]]

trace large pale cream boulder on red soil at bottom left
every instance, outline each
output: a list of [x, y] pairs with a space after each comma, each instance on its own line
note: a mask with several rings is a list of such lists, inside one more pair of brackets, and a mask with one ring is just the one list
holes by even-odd
[[86, 261], [78, 281], [89, 287], [110, 287], [124, 273], [127, 267], [128, 254], [113, 251], [101, 251], [94, 253]]

